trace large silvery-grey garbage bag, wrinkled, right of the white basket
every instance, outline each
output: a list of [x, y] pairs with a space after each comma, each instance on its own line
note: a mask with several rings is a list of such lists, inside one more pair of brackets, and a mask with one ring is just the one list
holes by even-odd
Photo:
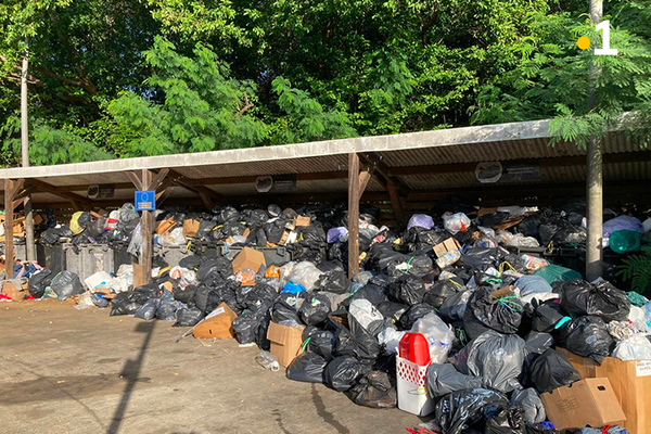
[[481, 376], [485, 387], [509, 393], [522, 387], [518, 378], [524, 363], [524, 345], [515, 334], [489, 330], [472, 340], [451, 361], [461, 373]]

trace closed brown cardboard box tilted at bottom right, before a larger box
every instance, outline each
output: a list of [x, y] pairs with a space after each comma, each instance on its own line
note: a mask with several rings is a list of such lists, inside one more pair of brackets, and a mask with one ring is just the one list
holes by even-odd
[[586, 379], [540, 395], [557, 430], [622, 424], [626, 416], [608, 379]]

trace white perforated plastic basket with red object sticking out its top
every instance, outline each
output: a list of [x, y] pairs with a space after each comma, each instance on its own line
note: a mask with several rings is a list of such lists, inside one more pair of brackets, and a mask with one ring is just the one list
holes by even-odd
[[418, 366], [396, 356], [396, 388], [398, 408], [416, 416], [434, 411], [434, 400], [427, 393], [427, 367]]

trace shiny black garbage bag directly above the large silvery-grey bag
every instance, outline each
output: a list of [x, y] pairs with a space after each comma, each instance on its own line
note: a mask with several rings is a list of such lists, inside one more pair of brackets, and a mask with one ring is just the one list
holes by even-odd
[[468, 302], [463, 328], [471, 339], [487, 330], [512, 334], [520, 328], [524, 310], [520, 299], [510, 296], [496, 298], [492, 293], [489, 289], [480, 288]]

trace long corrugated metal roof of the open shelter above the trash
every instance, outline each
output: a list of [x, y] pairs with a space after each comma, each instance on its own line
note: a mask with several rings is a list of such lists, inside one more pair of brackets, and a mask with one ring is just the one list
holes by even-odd
[[[560, 158], [585, 155], [586, 151], [571, 143], [550, 146], [548, 122], [500, 124], [481, 127], [454, 128], [408, 135], [330, 140], [283, 146], [217, 151], [199, 154], [164, 155], [142, 158], [114, 159], [59, 166], [0, 169], [0, 178], [37, 178], [54, 187], [88, 186], [94, 183], [128, 183], [128, 170], [173, 168], [192, 179], [255, 177], [260, 175], [345, 173], [347, 154], [373, 153], [391, 168], [472, 164], [492, 161]], [[624, 133], [613, 132], [603, 140], [604, 154], [644, 152], [644, 158], [629, 163], [604, 164], [604, 181], [650, 180], [651, 162], [648, 150]], [[574, 162], [576, 163], [576, 162]], [[542, 165], [540, 183], [580, 182], [585, 180], [583, 165], [552, 167]], [[347, 191], [347, 180], [298, 180], [294, 193], [342, 193]], [[461, 173], [404, 175], [398, 177], [414, 191], [470, 188], [481, 186], [468, 167]], [[229, 197], [257, 195], [250, 183], [206, 186]], [[0, 189], [3, 189], [0, 183]], [[369, 192], [384, 191], [375, 177], [367, 187]], [[128, 200], [132, 189], [116, 191], [115, 199]], [[78, 190], [85, 195], [85, 190]], [[174, 188], [173, 197], [196, 197], [184, 189]], [[0, 199], [1, 200], [1, 199]], [[34, 195], [35, 202], [63, 202], [44, 193]]]

